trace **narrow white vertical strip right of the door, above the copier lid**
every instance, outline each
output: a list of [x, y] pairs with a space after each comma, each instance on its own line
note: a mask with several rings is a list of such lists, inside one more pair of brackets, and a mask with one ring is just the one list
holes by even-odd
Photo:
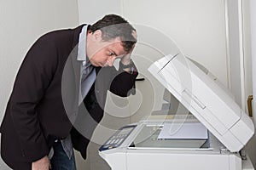
[[241, 1], [240, 0], [226, 0], [227, 2], [227, 32], [228, 32], [228, 48], [227, 53], [230, 60], [230, 90], [236, 98], [236, 102], [244, 109], [244, 87], [243, 80], [241, 80], [242, 67], [241, 67], [241, 57], [242, 54], [242, 39], [241, 39]]

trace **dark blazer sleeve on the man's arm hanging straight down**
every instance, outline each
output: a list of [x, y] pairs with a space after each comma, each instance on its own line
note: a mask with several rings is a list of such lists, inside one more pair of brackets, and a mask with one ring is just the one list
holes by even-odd
[[10, 112], [22, 156], [28, 162], [49, 152], [36, 110], [54, 76], [56, 56], [54, 44], [44, 37], [39, 38], [26, 54], [15, 79]]

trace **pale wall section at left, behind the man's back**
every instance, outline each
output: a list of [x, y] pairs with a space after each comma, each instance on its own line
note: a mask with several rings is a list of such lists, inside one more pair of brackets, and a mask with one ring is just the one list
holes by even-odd
[[[77, 1], [0, 1], [0, 122], [26, 51], [47, 31], [78, 26]], [[0, 159], [0, 169], [9, 169]]]

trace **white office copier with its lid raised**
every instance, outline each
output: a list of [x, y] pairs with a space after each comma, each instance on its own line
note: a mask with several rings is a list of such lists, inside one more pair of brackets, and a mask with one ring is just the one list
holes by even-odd
[[234, 99], [182, 54], [157, 60], [148, 71], [188, 110], [121, 127], [99, 149], [113, 170], [253, 169], [242, 150], [253, 122]]

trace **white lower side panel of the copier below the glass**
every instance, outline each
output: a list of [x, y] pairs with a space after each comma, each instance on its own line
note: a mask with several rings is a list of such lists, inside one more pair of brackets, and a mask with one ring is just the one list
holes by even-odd
[[[129, 150], [126, 159], [127, 170], [241, 170], [241, 159], [231, 159], [230, 162], [230, 155], [221, 154], [193, 154], [186, 153], [185, 151], [172, 153], [172, 151], [150, 152], [148, 150]], [[231, 166], [231, 164], [234, 165]]]

